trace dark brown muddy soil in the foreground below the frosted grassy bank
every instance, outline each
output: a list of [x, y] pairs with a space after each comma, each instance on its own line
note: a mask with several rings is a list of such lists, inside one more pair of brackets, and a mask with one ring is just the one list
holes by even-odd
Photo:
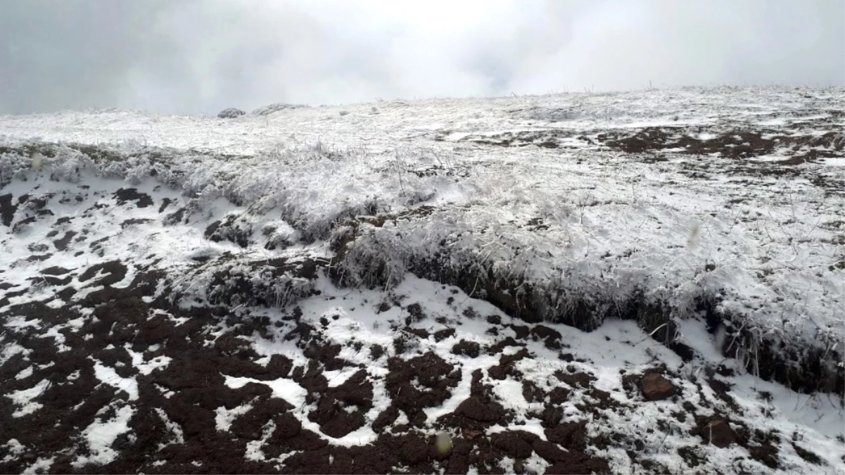
[[[105, 276], [104, 269], [108, 272]], [[559, 347], [559, 332], [544, 325], [503, 325], [500, 318], [490, 316], [486, 318], [488, 333], [503, 335], [496, 344], [482, 347], [455, 341], [451, 352], [466, 358], [493, 356], [499, 363], [486, 371], [473, 371], [470, 396], [429, 424], [423, 411], [450, 398], [461, 382], [461, 369], [434, 352], [419, 353], [418, 341], [455, 339], [454, 330], [429, 335], [420, 325], [403, 325], [397, 329], [401, 336], [393, 347], [357, 348], [373, 361], [385, 363], [386, 373], [373, 376], [362, 364], [339, 357], [341, 347], [324, 337], [328, 321], [305, 321], [297, 308], [281, 320], [270, 321], [249, 314], [236, 316], [221, 308], [184, 310], [161, 298], [148, 303], [144, 298], [155, 293], [159, 276], [140, 273], [128, 287], [110, 287], [109, 282], [123, 271], [117, 262], [96, 269], [67, 270], [64, 275], [74, 280], [101, 276], [97, 282], [101, 290], [90, 292], [73, 307], [33, 302], [3, 311], [7, 318], [37, 319], [47, 327], [85, 322], [66, 326], [52, 336], [32, 326], [14, 330], [7, 326], [3, 344], [14, 342], [25, 351], [0, 367], [3, 392], [26, 390], [36, 381], [47, 383], [35, 396], [40, 407], [30, 414], [18, 416], [12, 401], [0, 400], [0, 438], [15, 439], [23, 447], [14, 452], [7, 447], [0, 454], [5, 457], [0, 462], [3, 472], [23, 472], [50, 460], [48, 473], [275, 473], [280, 469], [285, 473], [387, 473], [400, 468], [408, 473], [467, 473], [471, 468], [478, 473], [532, 473], [536, 471], [525, 462], [539, 457], [545, 461], [546, 473], [610, 473], [608, 460], [596, 450], [612, 445], [624, 447], [631, 461], [647, 472], [668, 473], [668, 468], [651, 461], [646, 446], [630, 434], [596, 434], [588, 429], [586, 420], [564, 422], [562, 408], [567, 401], [577, 401], [593, 425], [607, 419], [608, 412], [635, 412], [636, 405], [664, 400], [673, 401], [668, 405], [667, 420], [695, 421], [690, 445], [678, 450], [690, 472], [695, 472], [704, 456], [699, 447], [710, 444], [739, 445], [748, 450], [750, 461], [779, 467], [778, 445], [786, 434], [764, 434], [739, 420], [728, 425], [726, 421], [732, 420], [731, 396], [726, 392], [729, 385], [717, 374], [696, 383], [712, 391], [713, 401], [704, 399], [695, 405], [679, 397], [678, 388], [670, 382], [673, 375], [659, 367], [624, 375], [632, 403], [620, 403], [597, 389], [595, 376], [574, 365], [555, 373], [553, 389], [547, 390], [523, 379], [516, 363], [537, 358], [526, 349], [528, 342]], [[46, 274], [60, 272], [52, 269]], [[8, 297], [10, 292], [5, 292]], [[406, 305], [409, 315], [422, 311], [416, 305]], [[88, 318], [81, 313], [84, 308], [92, 310]], [[515, 336], [504, 336], [511, 333]], [[292, 341], [302, 350], [306, 363], [294, 364], [281, 354], [264, 364], [256, 363], [260, 356], [252, 342], [262, 338]], [[561, 361], [573, 359], [565, 348], [558, 351]], [[151, 371], [139, 370], [134, 358], [154, 365], [157, 361], [168, 363]], [[122, 387], [120, 382], [103, 384], [95, 365], [112, 368], [122, 381], [134, 378], [137, 389]], [[27, 368], [33, 369], [21, 377]], [[326, 372], [339, 370], [353, 375], [330, 387]], [[305, 401], [311, 406], [307, 417], [319, 426], [319, 432], [303, 428], [292, 415], [296, 408], [274, 396], [267, 385], [251, 382], [233, 389], [226, 385], [224, 374], [258, 381], [292, 379], [307, 390]], [[377, 418], [366, 421], [364, 415], [373, 407], [375, 377], [383, 380], [391, 402]], [[526, 401], [535, 407], [532, 416], [540, 421], [545, 440], [521, 430], [488, 433], [493, 426], [506, 428], [515, 423], [515, 413], [506, 409], [507, 403], [492, 390], [504, 379], [521, 384]], [[722, 412], [720, 406], [728, 411]], [[132, 417], [128, 430], [110, 447], [115, 458], [105, 466], [80, 463], [91, 455], [85, 429], [117, 417], [126, 407], [131, 407]], [[221, 408], [231, 411], [237, 407], [247, 410], [226, 431], [221, 430], [215, 423], [217, 413]], [[706, 415], [708, 407], [716, 411]], [[327, 441], [326, 436], [342, 438], [367, 424], [377, 434], [370, 444], [343, 447]], [[652, 429], [667, 430], [668, 425]], [[447, 450], [439, 450], [436, 444], [439, 431], [454, 434]], [[256, 447], [267, 460], [245, 458]], [[811, 447], [800, 450], [805, 460], [821, 463]], [[272, 461], [283, 454], [281, 463]], [[510, 469], [501, 466], [503, 460], [512, 461]]]

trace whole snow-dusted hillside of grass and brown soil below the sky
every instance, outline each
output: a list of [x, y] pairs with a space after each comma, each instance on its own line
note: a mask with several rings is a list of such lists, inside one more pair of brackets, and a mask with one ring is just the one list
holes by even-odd
[[843, 130], [782, 88], [0, 117], [0, 467], [842, 472]]

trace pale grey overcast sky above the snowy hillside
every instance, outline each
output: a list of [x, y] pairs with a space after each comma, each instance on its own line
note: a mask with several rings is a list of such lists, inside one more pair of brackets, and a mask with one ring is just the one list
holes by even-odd
[[845, 85], [842, 0], [0, 0], [0, 113]]

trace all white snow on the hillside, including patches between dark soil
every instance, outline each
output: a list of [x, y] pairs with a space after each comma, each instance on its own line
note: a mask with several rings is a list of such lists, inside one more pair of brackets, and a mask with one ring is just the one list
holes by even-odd
[[[763, 137], [821, 136], [831, 130], [842, 134], [842, 123], [837, 123], [841, 117], [837, 111], [842, 110], [842, 90], [820, 90], [808, 98], [801, 91], [783, 88], [690, 88], [388, 101], [342, 110], [270, 106], [260, 117], [256, 113], [232, 121], [114, 110], [0, 117], [0, 147], [60, 144], [51, 145], [55, 153], [38, 153], [31, 162], [30, 157], [0, 152], [3, 194], [55, 195], [49, 205], [55, 216], [0, 235], [0, 268], [12, 270], [3, 274], [3, 280], [13, 286], [7, 292], [28, 290], [9, 298], [3, 308], [54, 298], [50, 287], [32, 282], [43, 277], [41, 270], [57, 265], [71, 270], [74, 280], [68, 286], [77, 292], [67, 303], [55, 298], [50, 307], [77, 305], [102, 288], [90, 282], [107, 275], [102, 271], [80, 282], [79, 273], [127, 256], [132, 259], [126, 261], [126, 276], [112, 287], [128, 287], [140, 270], [154, 266], [166, 273], [184, 307], [219, 304], [212, 286], [221, 270], [253, 275], [257, 272], [250, 265], [270, 259], [330, 259], [335, 251], [331, 244], [352, 236], [341, 261], [334, 265], [360, 286], [335, 287], [327, 276], [310, 280], [253, 275], [252, 281], [265, 284], [266, 293], [275, 296], [279, 308], [261, 310], [264, 314], [280, 320], [290, 303], [300, 308], [303, 321], [315, 327], [320, 319], [327, 319], [329, 323], [320, 330], [324, 340], [340, 345], [339, 358], [362, 365], [368, 373], [373, 408], [365, 414], [366, 423], [339, 439], [321, 435], [332, 445], [362, 445], [378, 437], [372, 423], [391, 403], [384, 385], [387, 360], [411, 357], [395, 355], [391, 345], [398, 335], [399, 325], [394, 324], [409, 316], [407, 304], [419, 303], [428, 315], [413, 322], [415, 328], [431, 333], [455, 329], [454, 336], [441, 341], [420, 339], [412, 350], [412, 355], [435, 352], [459, 367], [462, 376], [442, 405], [425, 408], [429, 425], [455, 412], [470, 396], [475, 370], [486, 372], [499, 363], [501, 354], [519, 349], [508, 347], [495, 355], [482, 352], [477, 358], [450, 352], [457, 341], [488, 347], [501, 339], [486, 333], [489, 325], [483, 317], [467, 316], [470, 309], [484, 317], [498, 316], [505, 325], [520, 322], [482, 299], [483, 282], [466, 293], [411, 272], [421, 262], [439, 259], [438, 266], [444, 270], [472, 270], [479, 275], [489, 271], [492, 276], [530, 284], [537, 300], [550, 309], [547, 316], [565, 314], [574, 297], [602, 314], [597, 322], [602, 325], [591, 332], [546, 324], [562, 335], [559, 341], [565, 351], [581, 359], [564, 362], [559, 352], [541, 341], [528, 341], [532, 358], [515, 364], [525, 379], [548, 389], [562, 385], [554, 379], [555, 372], [571, 367], [595, 378], [592, 387], [607, 391], [613, 401], [635, 405], [641, 401], [625, 392], [620, 372], [641, 374], [659, 363], [679, 375], [673, 383], [679, 385], [685, 401], [701, 406], [704, 400], [716, 401], [717, 407], [723, 403], [715, 393], [692, 380], [724, 364], [737, 372], [730, 379], [729, 395], [744, 415], [735, 420], [777, 429], [784, 436], [801, 434], [802, 444], [813, 447], [831, 470], [843, 469], [842, 445], [836, 440], [845, 427], [841, 400], [802, 395], [749, 374], [740, 358], [722, 356], [719, 343], [728, 336], [711, 335], [696, 306], [701, 299], [712, 299], [718, 310], [735, 317], [757, 339], [783, 341], [802, 352], [819, 350], [829, 358], [839, 358], [829, 363], [843, 364], [836, 355], [842, 354], [845, 339], [845, 272], [837, 263], [845, 259], [841, 224], [845, 194], [842, 188], [818, 183], [845, 180], [845, 158], [821, 156], [782, 166], [779, 162], [794, 155], [793, 150], [777, 149], [750, 160], [719, 154], [688, 156], [682, 147], [623, 154], [598, 139], [604, 133], [630, 134], [655, 127], [680, 128], [673, 134], [705, 141], [738, 130], [759, 131]], [[505, 139], [510, 142], [490, 145]], [[519, 144], [523, 139], [526, 143]], [[556, 148], [535, 145], [544, 140], [551, 140]], [[79, 151], [80, 144], [96, 145], [122, 159], [95, 160]], [[786, 172], [770, 174], [763, 172], [770, 168], [762, 167]], [[155, 178], [150, 177], [151, 171]], [[129, 186], [157, 202], [171, 199], [172, 208], [164, 215], [184, 208], [183, 218], [166, 222], [157, 205], [118, 206], [113, 194]], [[90, 210], [98, 205], [106, 207], [92, 215]], [[20, 207], [13, 226], [30, 214]], [[63, 217], [73, 219], [58, 225]], [[207, 239], [207, 227], [226, 219], [247, 229], [251, 237], [264, 236], [264, 241], [273, 240], [279, 247], [259, 243], [242, 247]], [[62, 234], [86, 232], [86, 246], [96, 241], [107, 245], [78, 256], [54, 253], [41, 261], [26, 260], [34, 254], [32, 246], [51, 242], [47, 233], [57, 226]], [[368, 288], [367, 284], [375, 285]], [[164, 292], [163, 286], [159, 292]], [[613, 317], [614, 309], [638, 299], [668, 308], [678, 329], [677, 341], [694, 350], [693, 361], [684, 362], [634, 320]], [[390, 308], [375, 311], [379, 303], [389, 303]], [[237, 307], [235, 312], [245, 305], [233, 307]], [[82, 313], [79, 319], [57, 325], [13, 315], [3, 325], [14, 331], [42, 330], [41, 336], [52, 336], [57, 349], [65, 352], [71, 348], [65, 345], [63, 331], [79, 331], [94, 318], [90, 311]], [[150, 317], [159, 315], [179, 324], [188, 320], [161, 310]], [[221, 325], [215, 336], [225, 330]], [[501, 336], [515, 336], [515, 331], [503, 327]], [[368, 351], [356, 349], [356, 342], [363, 347], [380, 345], [387, 351], [373, 360]], [[255, 363], [266, 366], [275, 354], [290, 358], [296, 366], [308, 363], [292, 341], [253, 336], [250, 343], [262, 357]], [[133, 348], [127, 343], [118, 349], [128, 352], [140, 375], [154, 374], [172, 362], [165, 356], [144, 358], [144, 352]], [[26, 358], [29, 352], [14, 342], [4, 344], [0, 363], [15, 355]], [[33, 366], [25, 368], [16, 380], [25, 381], [33, 374]], [[114, 418], [98, 420], [83, 431], [91, 456], [80, 456], [78, 467], [107, 463], [117, 456], [112, 442], [128, 432], [133, 405], [139, 401], [138, 379], [120, 377], [101, 361], [94, 368], [101, 383], [128, 393], [128, 405], [117, 409]], [[329, 387], [335, 388], [357, 370], [350, 366], [323, 374]], [[295, 407], [292, 412], [304, 429], [320, 434], [319, 424], [308, 418], [313, 407], [305, 402], [307, 391], [293, 379], [223, 376], [226, 386], [233, 389], [249, 383], [266, 385], [274, 397]], [[14, 417], [41, 408], [38, 396], [50, 384], [44, 379], [29, 389], [5, 394], [15, 404]], [[493, 426], [486, 434], [519, 429], [545, 439], [542, 426], [531, 416], [537, 407], [526, 401], [519, 380], [485, 378], [485, 384], [493, 385], [494, 395], [520, 423]], [[591, 404], [591, 396], [573, 392], [572, 400], [562, 406], [564, 419], [591, 420], [592, 415], [581, 408]], [[762, 393], [770, 396], [764, 400]], [[607, 420], [591, 421], [591, 428], [612, 428], [641, 440], [655, 460], [671, 472], [683, 472], [686, 467], [675, 454], [690, 445], [692, 421], [674, 422], [671, 433], [646, 431], [663, 420], [670, 404], [658, 401], [640, 404], [636, 411], [604, 411]], [[228, 431], [251, 408], [249, 403], [233, 409], [218, 407], [216, 429]], [[707, 411], [716, 413], [713, 408]], [[172, 434], [169, 443], [183, 443], [178, 424], [163, 410], [157, 412]], [[399, 423], [407, 423], [404, 412]], [[273, 424], [270, 421], [264, 427], [260, 440], [248, 443], [248, 460], [266, 461], [262, 446]], [[10, 440], [7, 445], [14, 444]], [[782, 461], [787, 467], [799, 467], [802, 461], [790, 447], [782, 444]], [[21, 450], [13, 447], [8, 452]], [[710, 457], [711, 467], [731, 467], [734, 459], [745, 456], [745, 450], [737, 446], [702, 450]], [[619, 447], [601, 455], [612, 460], [615, 470], [634, 469]], [[285, 457], [282, 454], [275, 463], [283, 465]], [[505, 459], [502, 467], [512, 470], [514, 462]], [[46, 469], [50, 463], [39, 459], [28, 469]], [[548, 466], [537, 456], [523, 463], [538, 472]]]

